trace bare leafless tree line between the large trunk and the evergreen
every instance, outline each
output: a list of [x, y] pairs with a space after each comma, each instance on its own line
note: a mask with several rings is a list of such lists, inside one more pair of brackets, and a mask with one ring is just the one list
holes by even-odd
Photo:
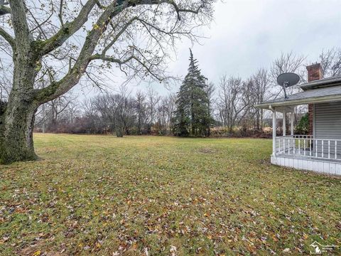
[[132, 96], [126, 86], [75, 103], [71, 96], [40, 107], [36, 131], [87, 134], [169, 134], [175, 95], [149, 89]]

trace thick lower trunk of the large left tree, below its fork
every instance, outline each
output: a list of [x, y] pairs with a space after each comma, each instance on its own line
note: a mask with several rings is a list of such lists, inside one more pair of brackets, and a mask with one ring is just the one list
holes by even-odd
[[0, 164], [37, 159], [33, 149], [34, 114], [40, 105], [33, 89], [39, 59], [29, 46], [13, 54], [13, 87], [2, 111]]

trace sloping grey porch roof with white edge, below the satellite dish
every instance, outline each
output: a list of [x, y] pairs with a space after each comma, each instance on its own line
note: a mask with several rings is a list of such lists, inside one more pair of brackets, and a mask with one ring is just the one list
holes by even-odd
[[[340, 79], [340, 78], [339, 78]], [[333, 85], [328, 87], [318, 87], [307, 90], [308, 83], [302, 85], [305, 91], [289, 95], [287, 98], [281, 97], [266, 102], [261, 102], [256, 107], [271, 109], [271, 107], [296, 106], [311, 103], [325, 103], [341, 101], [341, 85]], [[323, 85], [320, 83], [320, 85]]]

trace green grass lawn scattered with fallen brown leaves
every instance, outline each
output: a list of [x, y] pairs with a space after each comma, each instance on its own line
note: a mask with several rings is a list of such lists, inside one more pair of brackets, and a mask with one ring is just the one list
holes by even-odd
[[341, 179], [272, 166], [269, 139], [35, 134], [35, 145], [42, 160], [0, 166], [0, 255], [341, 246]]

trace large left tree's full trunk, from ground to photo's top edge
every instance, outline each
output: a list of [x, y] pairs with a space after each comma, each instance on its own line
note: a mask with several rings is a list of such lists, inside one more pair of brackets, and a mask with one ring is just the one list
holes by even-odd
[[40, 69], [40, 57], [29, 36], [23, 1], [11, 1], [13, 41], [13, 86], [6, 108], [1, 111], [0, 164], [37, 159], [33, 149], [35, 100], [34, 81]]

